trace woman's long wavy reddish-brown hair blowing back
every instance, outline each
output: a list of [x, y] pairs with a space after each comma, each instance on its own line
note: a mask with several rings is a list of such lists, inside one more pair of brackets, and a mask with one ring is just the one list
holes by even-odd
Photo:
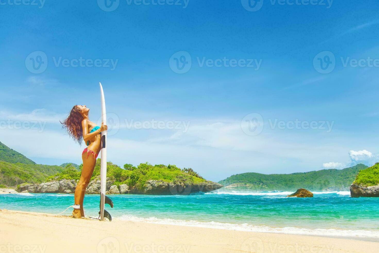
[[65, 128], [69, 136], [74, 139], [79, 145], [83, 142], [83, 128], [81, 127], [81, 121], [83, 119], [88, 119], [88, 117], [81, 111], [78, 105], [75, 105], [67, 119], [63, 120], [61, 124], [62, 128]]

